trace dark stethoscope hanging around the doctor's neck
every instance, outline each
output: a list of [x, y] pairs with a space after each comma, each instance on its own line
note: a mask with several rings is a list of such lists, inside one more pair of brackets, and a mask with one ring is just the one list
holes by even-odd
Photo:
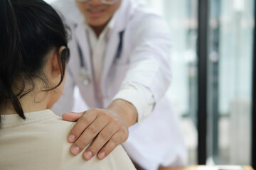
[[[119, 59], [122, 53], [122, 46], [123, 46], [123, 36], [124, 36], [124, 30], [122, 30], [119, 33], [119, 45], [117, 47], [117, 53], [115, 55], [115, 59]], [[78, 79], [80, 80], [80, 82], [82, 82], [82, 84], [84, 85], [88, 85], [91, 81], [90, 79], [90, 74], [85, 66], [85, 62], [82, 56], [82, 50], [81, 47], [79, 45], [78, 42], [77, 43], [77, 47], [78, 47], [78, 55], [79, 55], [79, 59], [80, 59], [80, 74], [78, 76]], [[90, 54], [91, 55], [91, 54]]]

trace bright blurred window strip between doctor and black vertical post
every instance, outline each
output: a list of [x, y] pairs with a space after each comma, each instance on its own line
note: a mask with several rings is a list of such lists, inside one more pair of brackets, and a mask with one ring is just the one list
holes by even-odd
[[172, 49], [172, 81], [167, 95], [176, 113], [181, 115], [189, 164], [197, 164], [197, 56], [198, 1], [149, 0], [149, 4], [169, 24]]

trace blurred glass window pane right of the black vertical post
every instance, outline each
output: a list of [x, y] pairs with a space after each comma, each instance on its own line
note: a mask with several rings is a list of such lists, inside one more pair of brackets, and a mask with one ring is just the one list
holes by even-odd
[[254, 0], [210, 0], [208, 159], [250, 164]]

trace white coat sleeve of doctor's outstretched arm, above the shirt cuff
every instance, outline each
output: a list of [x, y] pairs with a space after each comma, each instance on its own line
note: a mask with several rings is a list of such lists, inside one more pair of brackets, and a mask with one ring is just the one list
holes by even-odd
[[[157, 103], [171, 81], [169, 28], [159, 16], [137, 17], [132, 23], [130, 67], [122, 84], [134, 82], [145, 86]], [[139, 19], [140, 18], [140, 19]], [[144, 20], [142, 21], [142, 18]]]

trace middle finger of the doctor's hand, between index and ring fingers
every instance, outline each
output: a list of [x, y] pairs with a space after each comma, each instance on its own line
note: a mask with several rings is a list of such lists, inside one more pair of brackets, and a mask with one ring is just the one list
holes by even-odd
[[95, 119], [86, 129], [82, 135], [78, 137], [71, 147], [72, 154], [79, 154], [97, 135], [105, 128], [107, 122], [102, 122], [100, 119]]

